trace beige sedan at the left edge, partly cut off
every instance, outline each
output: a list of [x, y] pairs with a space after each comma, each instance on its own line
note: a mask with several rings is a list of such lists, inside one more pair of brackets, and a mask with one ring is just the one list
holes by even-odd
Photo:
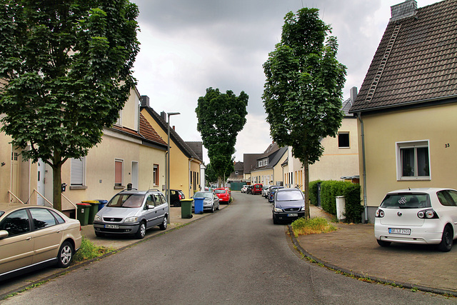
[[65, 268], [81, 246], [81, 225], [55, 209], [0, 204], [0, 280], [49, 264]]

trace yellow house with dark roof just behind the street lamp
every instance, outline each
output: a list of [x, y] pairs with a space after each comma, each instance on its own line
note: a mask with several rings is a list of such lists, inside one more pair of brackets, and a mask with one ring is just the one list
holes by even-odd
[[[141, 114], [157, 131], [162, 139], [168, 139], [168, 124], [164, 116], [159, 115], [149, 106], [149, 98], [142, 96]], [[192, 147], [191, 147], [192, 146]], [[201, 142], [185, 142], [170, 127], [170, 189], [184, 192], [186, 198], [194, 196], [195, 191], [203, 189], [201, 185], [202, 159]], [[195, 151], [199, 151], [198, 153]]]

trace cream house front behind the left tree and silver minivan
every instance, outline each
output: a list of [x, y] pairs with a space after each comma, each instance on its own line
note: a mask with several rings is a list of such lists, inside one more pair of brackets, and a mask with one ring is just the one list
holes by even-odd
[[[104, 129], [100, 144], [81, 159], [69, 159], [62, 166], [62, 210], [74, 216], [75, 204], [84, 200], [109, 200], [127, 186], [135, 189], [161, 189], [165, 184], [166, 142], [139, 113], [140, 95], [131, 90], [120, 118]], [[52, 170], [39, 161], [22, 161], [20, 151], [0, 134], [1, 157], [9, 151], [11, 161], [1, 172], [3, 201], [50, 205], [53, 201]], [[6, 149], [4, 149], [6, 148]], [[3, 156], [5, 154], [5, 156]], [[7, 181], [6, 177], [11, 177]]]

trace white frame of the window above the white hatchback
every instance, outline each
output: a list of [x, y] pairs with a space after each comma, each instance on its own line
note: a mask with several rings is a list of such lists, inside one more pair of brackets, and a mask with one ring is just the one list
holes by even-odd
[[[420, 140], [420, 141], [404, 141], [396, 142], [396, 166], [397, 166], [397, 181], [411, 181], [411, 180], [422, 180], [430, 181], [431, 180], [431, 159], [430, 159], [430, 141], [429, 140]], [[426, 147], [428, 149], [428, 176], [418, 176], [418, 161], [417, 161], [417, 149]], [[401, 159], [401, 149], [415, 149], [414, 151], [414, 173], [415, 176], [402, 176], [403, 162]]]

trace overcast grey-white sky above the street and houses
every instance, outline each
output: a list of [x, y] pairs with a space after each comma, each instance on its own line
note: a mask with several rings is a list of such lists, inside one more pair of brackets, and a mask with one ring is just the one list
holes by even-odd
[[[158, 113], [171, 116], [171, 126], [184, 141], [201, 141], [196, 130], [197, 100], [206, 88], [245, 91], [249, 96], [247, 122], [236, 141], [236, 161], [243, 154], [262, 153], [271, 137], [261, 95], [262, 65], [281, 40], [283, 18], [302, 7], [319, 9], [338, 39], [338, 61], [347, 67], [343, 99], [360, 89], [391, 6], [401, 0], [131, 0], [139, 6], [134, 76], [141, 95]], [[437, 2], [417, 0], [418, 7]], [[206, 151], [206, 150], [205, 150]], [[206, 164], [208, 157], [204, 156]]]

